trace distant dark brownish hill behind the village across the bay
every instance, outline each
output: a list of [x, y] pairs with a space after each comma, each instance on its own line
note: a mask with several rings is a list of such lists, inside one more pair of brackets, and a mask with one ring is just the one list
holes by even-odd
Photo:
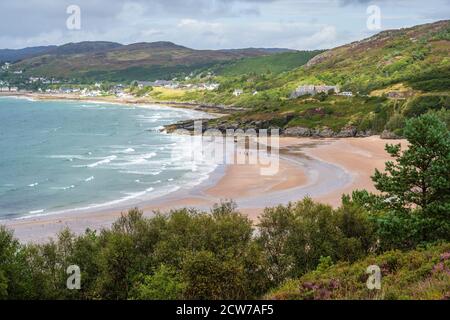
[[[14, 69], [25, 75], [112, 81], [168, 79], [199, 68], [287, 49], [194, 50], [171, 42], [80, 42], [15, 57]], [[40, 54], [39, 54], [40, 53]]]

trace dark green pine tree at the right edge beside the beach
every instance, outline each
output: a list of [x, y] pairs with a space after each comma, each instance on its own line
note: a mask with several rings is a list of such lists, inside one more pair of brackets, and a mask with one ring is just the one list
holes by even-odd
[[435, 114], [409, 120], [405, 136], [410, 145], [387, 145], [395, 159], [385, 172], [372, 177], [381, 195], [353, 193], [368, 206], [378, 225], [383, 249], [406, 248], [450, 235], [450, 132]]

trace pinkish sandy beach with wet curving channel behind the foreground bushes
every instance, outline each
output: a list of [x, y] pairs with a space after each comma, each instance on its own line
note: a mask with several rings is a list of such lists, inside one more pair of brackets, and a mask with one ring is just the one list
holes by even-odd
[[[310, 196], [314, 200], [339, 206], [341, 195], [355, 189], [375, 191], [370, 176], [374, 169], [383, 169], [389, 160], [386, 143], [405, 140], [366, 138], [312, 139], [280, 138], [279, 170], [262, 176], [259, 165], [226, 165], [210, 179], [193, 189], [174, 192], [168, 196], [136, 206], [151, 216], [155, 211], [168, 212], [180, 207], [208, 210], [223, 200], [236, 202], [238, 208], [257, 221], [265, 207], [287, 204]], [[44, 215], [32, 218], [3, 220], [0, 224], [14, 230], [23, 242], [43, 242], [65, 227], [75, 233], [86, 228], [101, 229], [111, 225], [130, 208], [88, 210]]]

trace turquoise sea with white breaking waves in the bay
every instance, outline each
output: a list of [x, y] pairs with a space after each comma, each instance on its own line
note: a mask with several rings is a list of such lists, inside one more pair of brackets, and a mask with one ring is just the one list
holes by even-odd
[[204, 117], [162, 106], [0, 98], [0, 219], [137, 203], [198, 184], [187, 137], [164, 124]]

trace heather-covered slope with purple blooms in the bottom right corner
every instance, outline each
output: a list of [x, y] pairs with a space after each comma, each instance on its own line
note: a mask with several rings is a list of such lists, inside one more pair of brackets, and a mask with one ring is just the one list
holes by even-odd
[[[366, 286], [366, 269], [381, 269], [381, 289]], [[326, 260], [317, 270], [298, 280], [289, 280], [267, 294], [267, 299], [450, 299], [450, 245], [436, 245], [407, 252], [391, 251], [355, 263], [329, 265]]]

